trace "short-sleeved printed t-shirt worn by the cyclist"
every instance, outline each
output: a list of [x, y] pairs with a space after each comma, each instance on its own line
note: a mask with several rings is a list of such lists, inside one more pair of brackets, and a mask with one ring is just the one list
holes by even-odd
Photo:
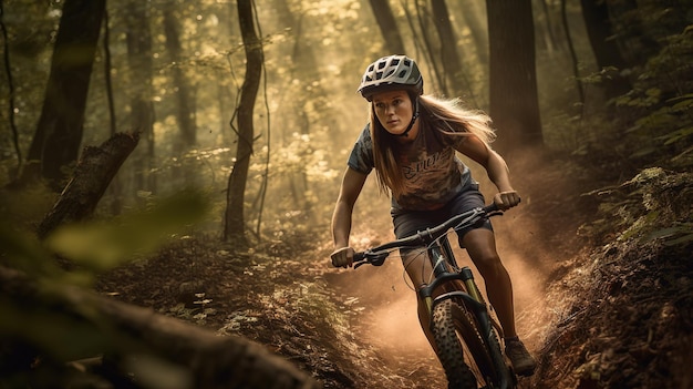
[[[449, 135], [421, 123], [412, 143], [399, 144], [395, 151], [402, 166], [404, 191], [392, 198], [392, 206], [410, 211], [436, 209], [445, 205], [472, 181], [469, 168], [456, 156], [455, 147], [465, 136]], [[373, 167], [373, 141], [366, 124], [349, 155], [349, 167], [370, 174]]]

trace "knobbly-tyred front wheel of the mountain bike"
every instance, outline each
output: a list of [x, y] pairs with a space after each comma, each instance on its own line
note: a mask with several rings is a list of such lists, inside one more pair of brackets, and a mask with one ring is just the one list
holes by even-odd
[[[495, 367], [484, 337], [472, 314], [452, 299], [433, 308], [433, 338], [448, 389], [498, 388], [500, 372]], [[492, 337], [492, 341], [495, 338]]]

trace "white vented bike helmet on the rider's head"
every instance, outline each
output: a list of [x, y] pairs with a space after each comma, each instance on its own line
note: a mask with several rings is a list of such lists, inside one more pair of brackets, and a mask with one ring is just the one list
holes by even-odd
[[376, 92], [405, 89], [414, 96], [423, 94], [424, 79], [416, 62], [406, 55], [383, 57], [371, 63], [363, 73], [358, 92], [368, 100], [373, 100]]

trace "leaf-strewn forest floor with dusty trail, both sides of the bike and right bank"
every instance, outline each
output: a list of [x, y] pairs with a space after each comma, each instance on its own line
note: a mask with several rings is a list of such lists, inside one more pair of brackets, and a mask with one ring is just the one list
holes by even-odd
[[[518, 330], [540, 361], [519, 388], [693, 387], [690, 249], [579, 236], [598, 206], [582, 194], [597, 187], [566, 185], [570, 168], [532, 176], [525, 185], [540, 190], [520, 188], [525, 209], [495, 223]], [[180, 239], [103, 276], [99, 289], [260, 342], [325, 388], [445, 388], [401, 263], [334, 269], [328, 232], [311, 233], [247, 253], [216, 237]], [[387, 235], [368, 236], [377, 239]]]

